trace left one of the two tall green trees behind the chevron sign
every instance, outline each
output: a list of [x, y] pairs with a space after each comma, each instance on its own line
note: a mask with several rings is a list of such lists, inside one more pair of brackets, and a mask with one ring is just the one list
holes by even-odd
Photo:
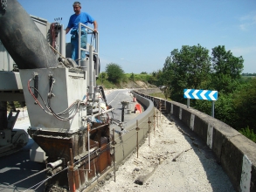
[[163, 65], [163, 83], [170, 89], [171, 98], [183, 101], [183, 89], [202, 88], [210, 78], [209, 51], [201, 45], [183, 45], [170, 52]]

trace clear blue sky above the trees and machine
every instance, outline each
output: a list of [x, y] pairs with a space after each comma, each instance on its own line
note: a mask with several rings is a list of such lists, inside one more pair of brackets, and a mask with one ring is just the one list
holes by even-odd
[[[73, 0], [17, 0], [29, 14], [68, 24]], [[125, 73], [156, 72], [183, 45], [210, 51], [225, 45], [256, 72], [256, 0], [84, 0], [82, 11], [98, 23], [101, 72], [120, 65]], [[93, 25], [89, 25], [93, 28]], [[70, 35], [66, 35], [70, 42]]]

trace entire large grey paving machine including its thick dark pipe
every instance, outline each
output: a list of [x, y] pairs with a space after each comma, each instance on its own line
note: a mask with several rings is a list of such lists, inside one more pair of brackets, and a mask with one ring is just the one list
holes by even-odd
[[[7, 115], [7, 102], [18, 101], [27, 107], [27, 133], [36, 143], [31, 159], [46, 165], [45, 191], [86, 188], [113, 162], [108, 116], [113, 108], [101, 107], [107, 99], [96, 85], [99, 32], [80, 24], [91, 42], [79, 45], [79, 60], [73, 61], [59, 20], [51, 24], [28, 15], [17, 0], [5, 0], [0, 25], [0, 153], [28, 141], [23, 130], [13, 129], [15, 107]], [[86, 58], [80, 59], [80, 51]]]

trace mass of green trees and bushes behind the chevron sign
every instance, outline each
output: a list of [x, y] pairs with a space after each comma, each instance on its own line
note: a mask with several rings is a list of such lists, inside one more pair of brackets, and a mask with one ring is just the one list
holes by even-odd
[[[157, 86], [166, 86], [168, 98], [183, 104], [186, 103], [183, 89], [218, 91], [215, 118], [253, 138], [256, 133], [256, 79], [241, 78], [243, 63], [242, 57], [233, 56], [224, 45], [214, 47], [211, 56], [201, 45], [183, 45], [181, 50], [171, 51], [163, 69], [153, 72], [152, 76], [158, 79]], [[207, 100], [190, 100], [190, 106], [211, 114], [211, 102]]]

